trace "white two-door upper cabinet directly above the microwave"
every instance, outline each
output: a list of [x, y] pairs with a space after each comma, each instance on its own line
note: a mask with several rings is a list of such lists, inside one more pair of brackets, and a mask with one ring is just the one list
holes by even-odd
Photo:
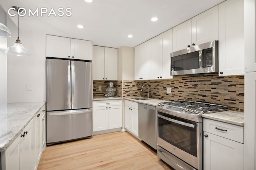
[[218, 40], [218, 6], [173, 28], [173, 51]]

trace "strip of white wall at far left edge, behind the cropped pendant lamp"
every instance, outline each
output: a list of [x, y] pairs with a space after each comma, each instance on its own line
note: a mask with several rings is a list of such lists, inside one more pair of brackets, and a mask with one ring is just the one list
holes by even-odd
[[[0, 22], [6, 24], [6, 13], [0, 6]], [[7, 47], [7, 38], [0, 38], [0, 104], [7, 102], [7, 58], [4, 53]]]

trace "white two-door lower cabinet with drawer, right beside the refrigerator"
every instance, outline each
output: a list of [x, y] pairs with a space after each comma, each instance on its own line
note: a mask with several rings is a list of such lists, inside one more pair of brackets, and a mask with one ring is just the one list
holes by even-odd
[[93, 102], [93, 131], [122, 127], [122, 100]]

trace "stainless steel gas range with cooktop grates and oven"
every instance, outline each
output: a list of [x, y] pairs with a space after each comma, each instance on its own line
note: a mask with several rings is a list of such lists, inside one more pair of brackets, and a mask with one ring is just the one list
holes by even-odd
[[157, 111], [157, 155], [176, 170], [202, 170], [202, 114], [229, 110], [210, 102], [161, 102]]

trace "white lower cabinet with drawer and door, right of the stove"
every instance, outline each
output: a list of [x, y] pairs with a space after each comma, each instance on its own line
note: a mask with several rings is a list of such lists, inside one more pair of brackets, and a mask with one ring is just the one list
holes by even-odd
[[243, 139], [243, 127], [204, 119], [204, 170], [243, 170]]

